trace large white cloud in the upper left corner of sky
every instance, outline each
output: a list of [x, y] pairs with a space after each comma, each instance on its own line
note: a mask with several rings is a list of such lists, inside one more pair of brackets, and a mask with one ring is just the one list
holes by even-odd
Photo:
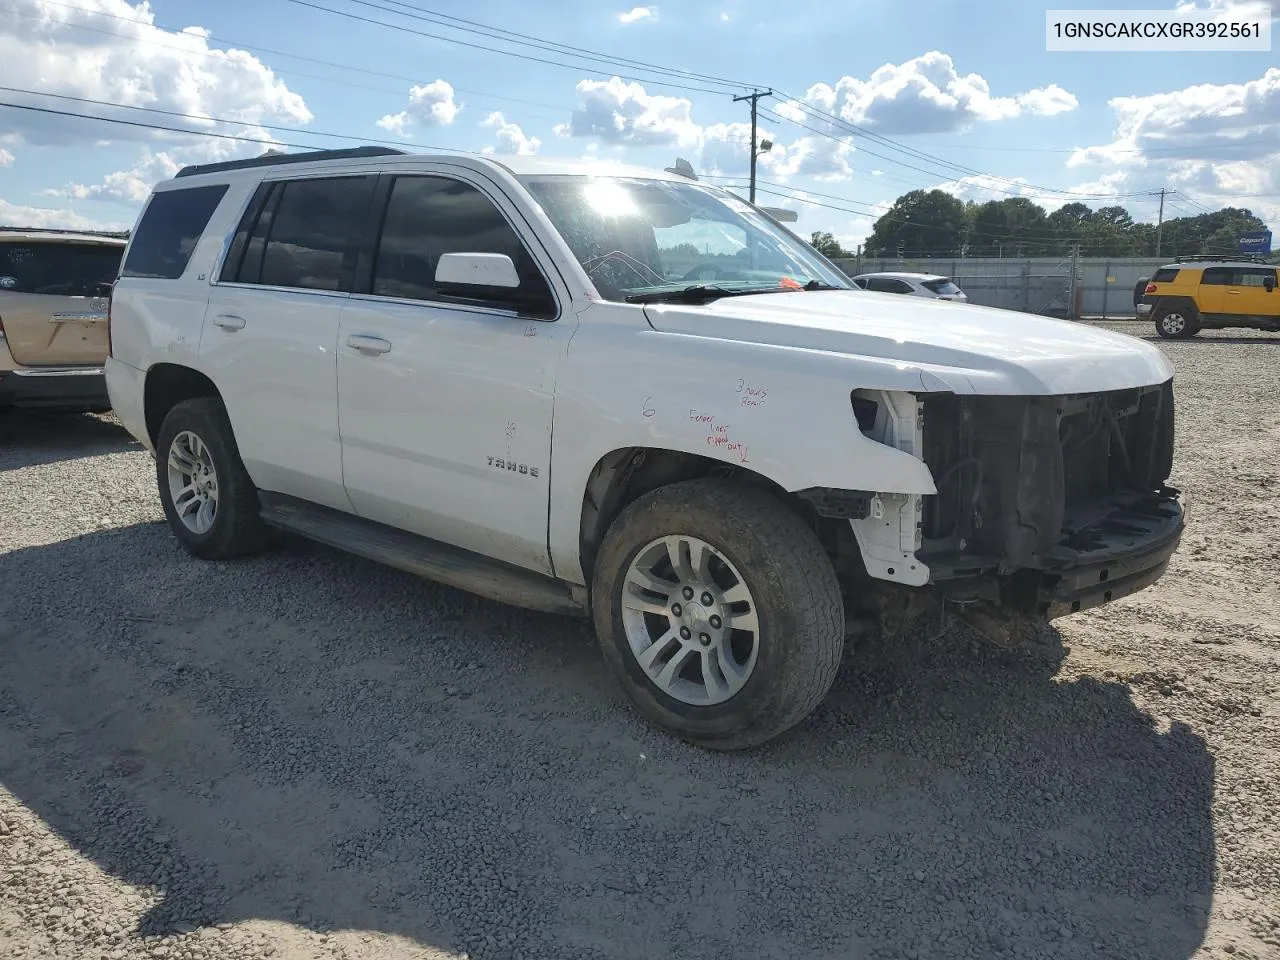
[[[147, 3], [79, 0], [74, 6], [14, 0], [0, 18], [0, 63], [5, 84], [146, 106], [243, 123], [305, 124], [311, 111], [265, 64], [243, 50], [211, 47], [207, 32], [188, 27], [173, 35], [154, 26]], [[119, 18], [119, 19], [118, 19]], [[88, 29], [78, 29], [83, 27]], [[97, 31], [97, 32], [92, 32]], [[154, 119], [169, 127], [211, 129], [211, 120], [138, 114], [136, 110], [72, 105], [46, 97], [9, 95], [19, 104], [70, 109], [131, 120]], [[33, 111], [10, 111], [9, 132], [32, 143], [182, 140], [172, 133], [108, 125]]]

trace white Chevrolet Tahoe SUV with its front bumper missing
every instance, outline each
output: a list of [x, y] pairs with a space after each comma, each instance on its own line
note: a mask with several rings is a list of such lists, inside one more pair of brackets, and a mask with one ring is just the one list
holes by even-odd
[[142, 211], [110, 333], [111, 402], [192, 553], [276, 527], [588, 614], [640, 710], [714, 749], [809, 714], [850, 632], [1007, 639], [1149, 585], [1183, 530], [1155, 347], [868, 297], [678, 174], [188, 168]]

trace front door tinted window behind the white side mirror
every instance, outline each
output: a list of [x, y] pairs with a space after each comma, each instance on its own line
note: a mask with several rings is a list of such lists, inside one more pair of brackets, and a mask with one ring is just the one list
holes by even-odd
[[[516, 291], [439, 291], [442, 253], [506, 253], [516, 265]], [[520, 237], [484, 193], [443, 177], [401, 177], [392, 184], [374, 262], [372, 292], [380, 297], [443, 300], [486, 306], [554, 311], [550, 288]], [[518, 303], [513, 301], [520, 301]]]

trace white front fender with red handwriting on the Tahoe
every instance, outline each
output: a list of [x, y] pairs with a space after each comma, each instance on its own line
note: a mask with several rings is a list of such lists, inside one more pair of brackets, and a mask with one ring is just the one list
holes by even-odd
[[585, 582], [579, 536], [588, 479], [604, 456], [628, 447], [719, 460], [788, 492], [936, 493], [910, 445], [896, 449], [859, 430], [851, 403], [859, 388], [905, 396], [924, 392], [927, 381], [909, 365], [623, 334], [584, 320], [557, 384], [549, 517], [557, 575]]

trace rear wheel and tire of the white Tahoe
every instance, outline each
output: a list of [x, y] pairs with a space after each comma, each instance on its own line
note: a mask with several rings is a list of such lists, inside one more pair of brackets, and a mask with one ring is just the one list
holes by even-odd
[[156, 436], [156, 484], [178, 541], [202, 559], [257, 553], [268, 529], [221, 401], [173, 407]]

